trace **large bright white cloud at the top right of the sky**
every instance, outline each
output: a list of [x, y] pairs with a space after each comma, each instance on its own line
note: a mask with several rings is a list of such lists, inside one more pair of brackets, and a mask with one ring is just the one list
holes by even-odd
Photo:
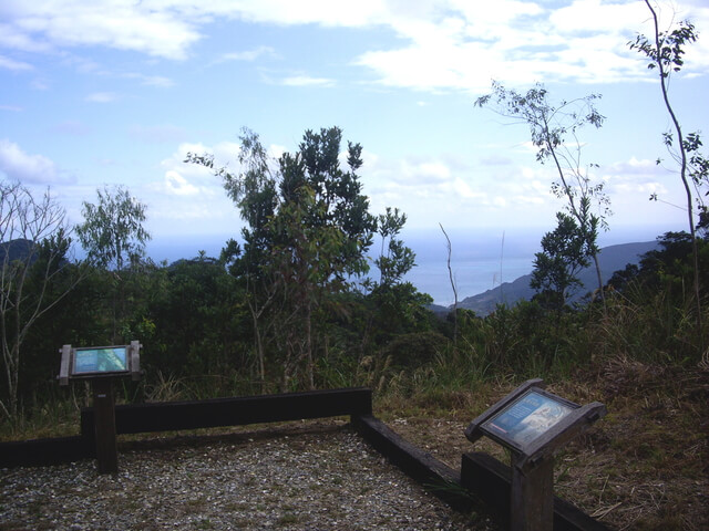
[[[425, 20], [388, 21], [409, 43], [366, 52], [356, 64], [372, 70], [379, 83], [421, 91], [476, 92], [491, 79], [614, 83], [648, 75], [627, 46], [636, 31], [648, 30], [641, 2], [580, 0], [556, 10], [506, 1], [435, 6], [440, 9]], [[688, 14], [709, 24], [709, 9]], [[688, 63], [691, 59], [692, 67], [707, 72], [709, 53], [701, 50], [691, 50]]]

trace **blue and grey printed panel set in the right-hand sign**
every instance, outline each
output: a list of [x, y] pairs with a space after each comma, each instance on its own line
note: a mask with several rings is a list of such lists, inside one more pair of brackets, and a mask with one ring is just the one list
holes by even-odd
[[526, 446], [575, 408], [548, 394], [527, 391], [482, 427], [520, 446]]

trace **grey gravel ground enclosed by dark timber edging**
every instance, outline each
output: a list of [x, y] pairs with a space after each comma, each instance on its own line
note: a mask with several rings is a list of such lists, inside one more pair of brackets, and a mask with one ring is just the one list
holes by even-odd
[[349, 427], [122, 445], [94, 460], [0, 470], [0, 530], [486, 529], [425, 492]]

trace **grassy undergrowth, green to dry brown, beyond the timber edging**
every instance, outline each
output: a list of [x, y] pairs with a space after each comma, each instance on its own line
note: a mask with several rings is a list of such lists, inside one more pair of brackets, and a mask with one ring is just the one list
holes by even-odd
[[[647, 293], [644, 294], [647, 296]], [[626, 291], [606, 306], [548, 314], [534, 303], [490, 317], [463, 314], [456, 337], [409, 334], [397, 350], [362, 355], [332, 350], [318, 360], [317, 387], [372, 388], [374, 412], [452, 466], [473, 448], [462, 436], [472, 418], [525, 379], [579, 404], [598, 400], [608, 415], [557, 457], [557, 492], [618, 529], [709, 529], [709, 334], [689, 302], [668, 293]], [[706, 306], [705, 306], [706, 308]], [[709, 323], [709, 313], [703, 315]], [[402, 353], [419, 337], [415, 358]], [[0, 421], [0, 439], [75, 435], [91, 404], [84, 384], [24, 404]], [[119, 383], [116, 402], [164, 402], [269, 394], [280, 382], [226, 374], [150, 371]]]

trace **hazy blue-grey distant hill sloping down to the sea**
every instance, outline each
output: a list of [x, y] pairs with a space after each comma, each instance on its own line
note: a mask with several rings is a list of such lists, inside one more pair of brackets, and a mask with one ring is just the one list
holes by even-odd
[[[620, 269], [625, 269], [628, 263], [638, 263], [643, 254], [657, 248], [657, 241], [621, 243], [618, 246], [603, 248], [598, 254], [598, 261], [600, 262], [600, 272], [604, 284], [608, 282], [610, 277], [613, 277], [613, 273]], [[525, 274], [513, 282], [503, 282], [502, 285], [487, 290], [484, 293], [463, 299], [458, 303], [458, 308], [473, 310], [477, 315], [487, 315], [495, 310], [497, 304], [504, 303], [512, 306], [517, 301], [528, 301], [535, 293], [535, 291], [530, 288], [531, 279], [532, 274]], [[579, 300], [586, 293], [596, 289], [596, 269], [593, 266], [584, 269], [579, 273], [578, 279], [584, 285], [574, 293], [574, 296], [571, 299], [572, 301]], [[451, 308], [452, 305], [449, 306], [448, 310]], [[438, 313], [442, 309], [443, 306], [436, 306], [432, 310]]]

